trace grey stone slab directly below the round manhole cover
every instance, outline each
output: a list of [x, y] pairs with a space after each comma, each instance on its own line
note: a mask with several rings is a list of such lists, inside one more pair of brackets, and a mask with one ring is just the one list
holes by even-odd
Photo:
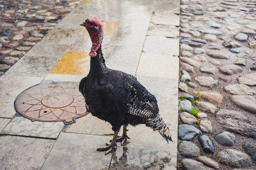
[[14, 117], [1, 134], [57, 138], [63, 126], [63, 122], [32, 122], [24, 117]]

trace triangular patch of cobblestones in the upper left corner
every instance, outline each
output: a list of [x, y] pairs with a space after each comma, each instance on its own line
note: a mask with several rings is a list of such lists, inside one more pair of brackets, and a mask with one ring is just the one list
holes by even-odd
[[0, 1], [0, 76], [80, 1]]

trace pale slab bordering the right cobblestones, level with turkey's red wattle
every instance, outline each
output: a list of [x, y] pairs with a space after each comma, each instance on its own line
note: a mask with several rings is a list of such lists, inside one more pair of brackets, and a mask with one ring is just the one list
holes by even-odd
[[179, 39], [163, 36], [147, 36], [143, 52], [179, 56]]

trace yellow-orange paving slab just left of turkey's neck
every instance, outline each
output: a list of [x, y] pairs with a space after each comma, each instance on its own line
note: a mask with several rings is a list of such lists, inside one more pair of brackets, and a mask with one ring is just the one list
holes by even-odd
[[87, 75], [90, 70], [90, 56], [84, 52], [66, 52], [53, 67], [52, 74]]

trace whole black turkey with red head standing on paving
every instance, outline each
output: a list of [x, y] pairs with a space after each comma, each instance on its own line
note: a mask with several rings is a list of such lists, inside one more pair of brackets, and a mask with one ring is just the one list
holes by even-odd
[[[127, 125], [146, 124], [158, 130], [164, 139], [172, 141], [171, 133], [163, 118], [160, 117], [158, 101], [154, 95], [137, 81], [135, 76], [106, 67], [101, 50], [103, 25], [96, 19], [86, 19], [80, 25], [89, 32], [92, 40], [90, 49], [90, 71], [81, 79], [79, 90], [85, 97], [85, 106], [93, 116], [112, 125], [114, 136], [110, 145], [98, 148], [109, 154], [117, 141], [122, 144], [130, 139], [126, 134]], [[123, 125], [122, 136], [118, 131]]]

